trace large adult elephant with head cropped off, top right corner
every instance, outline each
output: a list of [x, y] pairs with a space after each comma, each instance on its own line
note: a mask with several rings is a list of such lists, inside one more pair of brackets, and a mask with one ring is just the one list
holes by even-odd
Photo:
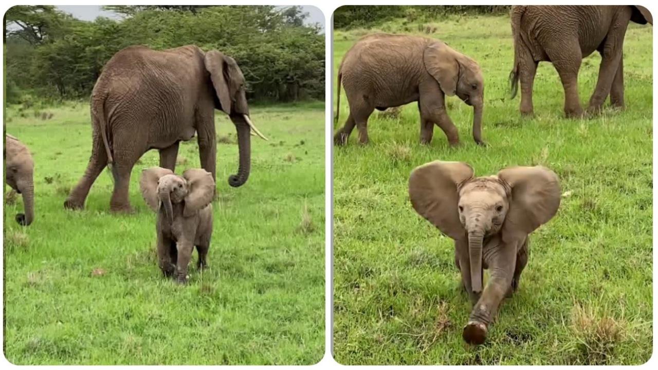
[[[601, 111], [610, 95], [624, 107], [624, 36], [628, 22], [653, 25], [639, 5], [514, 5], [511, 9], [514, 66], [509, 76], [512, 99], [521, 84], [521, 115], [532, 115], [532, 86], [537, 65], [553, 63], [565, 89], [565, 115], [583, 117]], [[578, 96], [578, 70], [583, 58], [601, 54], [599, 78], [583, 111]]]

